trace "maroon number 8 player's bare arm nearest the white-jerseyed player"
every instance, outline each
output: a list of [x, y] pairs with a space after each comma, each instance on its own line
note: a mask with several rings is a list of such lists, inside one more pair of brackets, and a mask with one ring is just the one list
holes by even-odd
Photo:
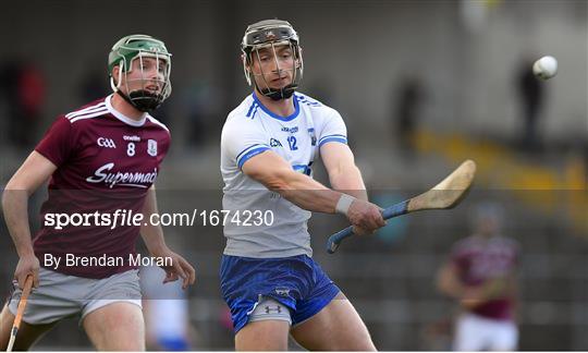
[[[151, 186], [147, 193], [143, 212], [144, 215], [158, 212], [155, 186]], [[181, 278], [183, 289], [186, 289], [189, 284], [194, 284], [196, 281], [196, 271], [194, 267], [192, 267], [186, 259], [168, 247], [163, 238], [163, 229], [160, 224], [155, 226], [146, 222], [146, 224], [140, 227], [140, 235], [151, 256], [172, 258], [172, 266], [163, 268], [167, 275], [163, 283], [176, 281]]]

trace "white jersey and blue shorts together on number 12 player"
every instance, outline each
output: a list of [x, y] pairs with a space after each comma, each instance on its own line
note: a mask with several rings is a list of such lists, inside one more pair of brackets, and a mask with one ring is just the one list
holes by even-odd
[[[302, 94], [294, 95], [294, 113], [280, 117], [254, 95], [226, 118], [221, 139], [223, 208], [235, 211], [271, 211], [272, 222], [224, 222], [226, 246], [221, 261], [221, 292], [231, 308], [235, 332], [248, 324], [262, 297], [289, 309], [292, 325], [319, 313], [340, 292], [310, 256], [306, 222], [310, 212], [270, 192], [245, 175], [243, 165], [252, 157], [273, 150], [294, 170], [313, 175], [320, 146], [346, 143], [343, 119]], [[269, 308], [268, 308], [269, 314]], [[270, 318], [268, 318], [270, 319]]]

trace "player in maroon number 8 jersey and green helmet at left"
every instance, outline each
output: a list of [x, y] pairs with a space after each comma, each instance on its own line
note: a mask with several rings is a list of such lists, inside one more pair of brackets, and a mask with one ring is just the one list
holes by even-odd
[[[15, 350], [28, 349], [57, 321], [81, 316], [98, 350], [145, 350], [138, 270], [131, 263], [140, 233], [154, 258], [171, 259], [164, 281], [194, 283], [194, 268], [172, 252], [160, 227], [62, 229], [44, 222], [32, 241], [27, 198], [49, 180], [41, 219], [52, 214], [157, 212], [154, 182], [170, 145], [166, 125], [149, 115], [171, 93], [171, 54], [150, 36], [122, 38], [109, 56], [114, 94], [59, 117], [5, 186], [4, 217], [19, 253], [14, 278], [22, 288], [34, 276]], [[93, 221], [96, 219], [90, 218]], [[103, 219], [103, 218], [100, 218]], [[108, 265], [66, 263], [68, 258], [123, 259]], [[48, 260], [49, 259], [49, 260]], [[0, 349], [5, 349], [20, 289], [1, 313]]]

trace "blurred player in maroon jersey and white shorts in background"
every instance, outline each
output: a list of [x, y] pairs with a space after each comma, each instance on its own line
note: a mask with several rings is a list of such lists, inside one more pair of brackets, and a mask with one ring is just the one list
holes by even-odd
[[498, 205], [480, 205], [474, 235], [453, 246], [450, 260], [439, 271], [439, 289], [463, 308], [455, 325], [456, 351], [516, 350], [518, 245], [500, 235], [501, 223]]

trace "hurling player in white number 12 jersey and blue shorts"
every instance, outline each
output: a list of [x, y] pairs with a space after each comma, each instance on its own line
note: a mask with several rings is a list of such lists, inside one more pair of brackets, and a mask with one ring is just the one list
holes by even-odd
[[[258, 211], [252, 227], [228, 221], [221, 290], [238, 351], [281, 351], [289, 334], [308, 350], [372, 351], [362, 318], [311, 258], [310, 211], [345, 215], [357, 234], [385, 224], [367, 200], [362, 174], [334, 109], [296, 92], [303, 74], [298, 36], [285, 21], [247, 27], [242, 59], [250, 96], [223, 126], [223, 208]], [[315, 157], [332, 188], [311, 178]]]

